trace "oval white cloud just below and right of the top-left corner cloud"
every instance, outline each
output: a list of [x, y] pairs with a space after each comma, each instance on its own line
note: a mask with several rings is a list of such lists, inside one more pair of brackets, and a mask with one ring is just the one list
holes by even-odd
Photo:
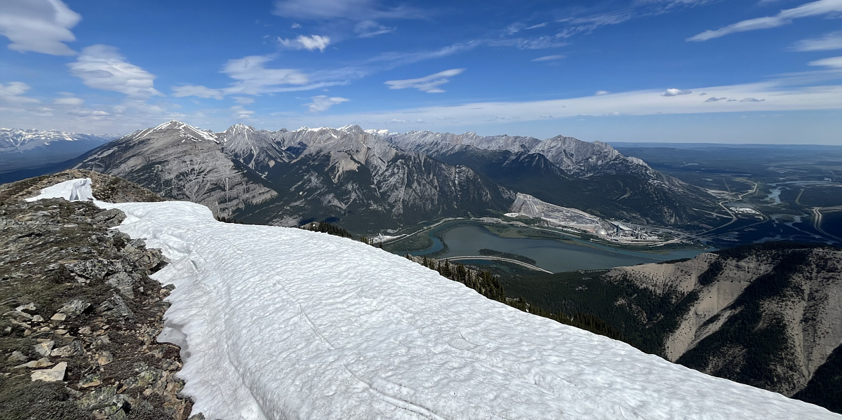
[[67, 66], [89, 88], [125, 93], [132, 98], [162, 95], [153, 88], [155, 76], [125, 61], [113, 46], [91, 45]]

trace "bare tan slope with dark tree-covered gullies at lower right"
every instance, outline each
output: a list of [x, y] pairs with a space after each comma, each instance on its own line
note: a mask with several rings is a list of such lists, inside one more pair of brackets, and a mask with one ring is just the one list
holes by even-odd
[[842, 344], [836, 247], [738, 247], [680, 263], [614, 268], [607, 277], [663, 296], [697, 294], [663, 354], [711, 375], [793, 396]]

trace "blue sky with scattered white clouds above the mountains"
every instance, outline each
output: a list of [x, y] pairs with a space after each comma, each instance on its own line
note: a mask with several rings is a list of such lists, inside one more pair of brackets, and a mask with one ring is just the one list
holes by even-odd
[[842, 0], [3, 0], [0, 125], [842, 145]]

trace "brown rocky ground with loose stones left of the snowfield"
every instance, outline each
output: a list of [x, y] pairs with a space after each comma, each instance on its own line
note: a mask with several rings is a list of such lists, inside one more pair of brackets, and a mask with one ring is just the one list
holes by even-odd
[[[23, 200], [84, 174], [0, 186], [0, 417], [187, 418], [179, 348], [156, 341], [172, 286], [148, 275], [166, 258], [109, 229], [125, 218], [120, 210]], [[98, 197], [161, 200], [91, 175]]]

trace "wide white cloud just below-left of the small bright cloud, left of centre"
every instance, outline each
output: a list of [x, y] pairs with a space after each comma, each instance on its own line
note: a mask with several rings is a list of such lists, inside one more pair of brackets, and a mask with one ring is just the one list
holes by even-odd
[[[222, 92], [256, 95], [314, 88], [303, 86], [310, 82], [306, 74], [292, 68], [266, 68], [265, 65], [269, 61], [272, 61], [269, 56], [247, 56], [228, 60], [225, 66], [222, 66], [222, 72], [237, 82], [222, 89]], [[294, 88], [290, 88], [290, 85]]]

